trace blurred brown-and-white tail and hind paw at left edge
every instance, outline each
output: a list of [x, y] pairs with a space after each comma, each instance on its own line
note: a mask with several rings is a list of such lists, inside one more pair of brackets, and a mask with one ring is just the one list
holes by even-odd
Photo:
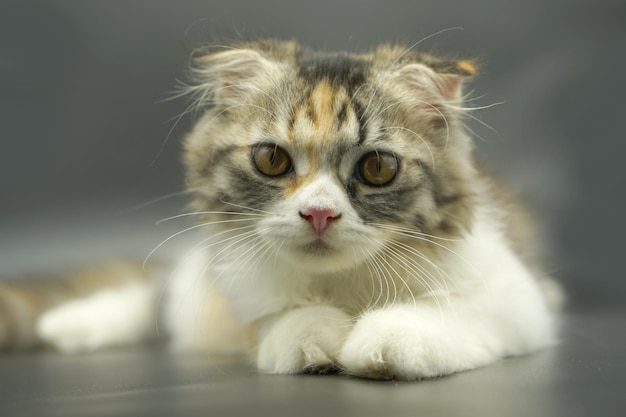
[[115, 263], [60, 279], [0, 280], [0, 349], [83, 351], [144, 339], [154, 333], [154, 272]]

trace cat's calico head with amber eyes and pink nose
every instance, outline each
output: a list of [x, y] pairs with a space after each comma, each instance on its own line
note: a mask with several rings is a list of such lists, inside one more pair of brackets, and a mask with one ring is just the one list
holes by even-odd
[[188, 185], [225, 242], [332, 270], [470, 227], [472, 62], [260, 41], [208, 48], [194, 72]]

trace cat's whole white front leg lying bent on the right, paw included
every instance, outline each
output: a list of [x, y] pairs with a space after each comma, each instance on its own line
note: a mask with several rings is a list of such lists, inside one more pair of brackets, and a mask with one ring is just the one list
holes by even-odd
[[536, 282], [513, 258], [501, 261], [489, 278], [448, 298], [366, 313], [342, 348], [341, 365], [355, 375], [414, 380], [553, 343], [554, 320]]

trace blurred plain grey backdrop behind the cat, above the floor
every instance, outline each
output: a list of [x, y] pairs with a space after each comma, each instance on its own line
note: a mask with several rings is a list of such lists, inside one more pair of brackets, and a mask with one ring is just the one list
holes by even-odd
[[[0, 5], [0, 275], [144, 256], [181, 225], [172, 95], [189, 47], [219, 35], [330, 50], [424, 43], [484, 61], [483, 157], [544, 222], [575, 309], [621, 304], [623, 1], [19, 1]], [[168, 136], [168, 132], [171, 134]], [[168, 228], [169, 227], [169, 228]]]

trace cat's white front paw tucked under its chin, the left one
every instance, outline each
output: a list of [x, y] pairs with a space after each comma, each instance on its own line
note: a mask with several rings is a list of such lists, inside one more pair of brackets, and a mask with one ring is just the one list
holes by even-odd
[[257, 367], [279, 374], [332, 371], [351, 323], [350, 317], [335, 307], [290, 311], [272, 323], [262, 338]]

